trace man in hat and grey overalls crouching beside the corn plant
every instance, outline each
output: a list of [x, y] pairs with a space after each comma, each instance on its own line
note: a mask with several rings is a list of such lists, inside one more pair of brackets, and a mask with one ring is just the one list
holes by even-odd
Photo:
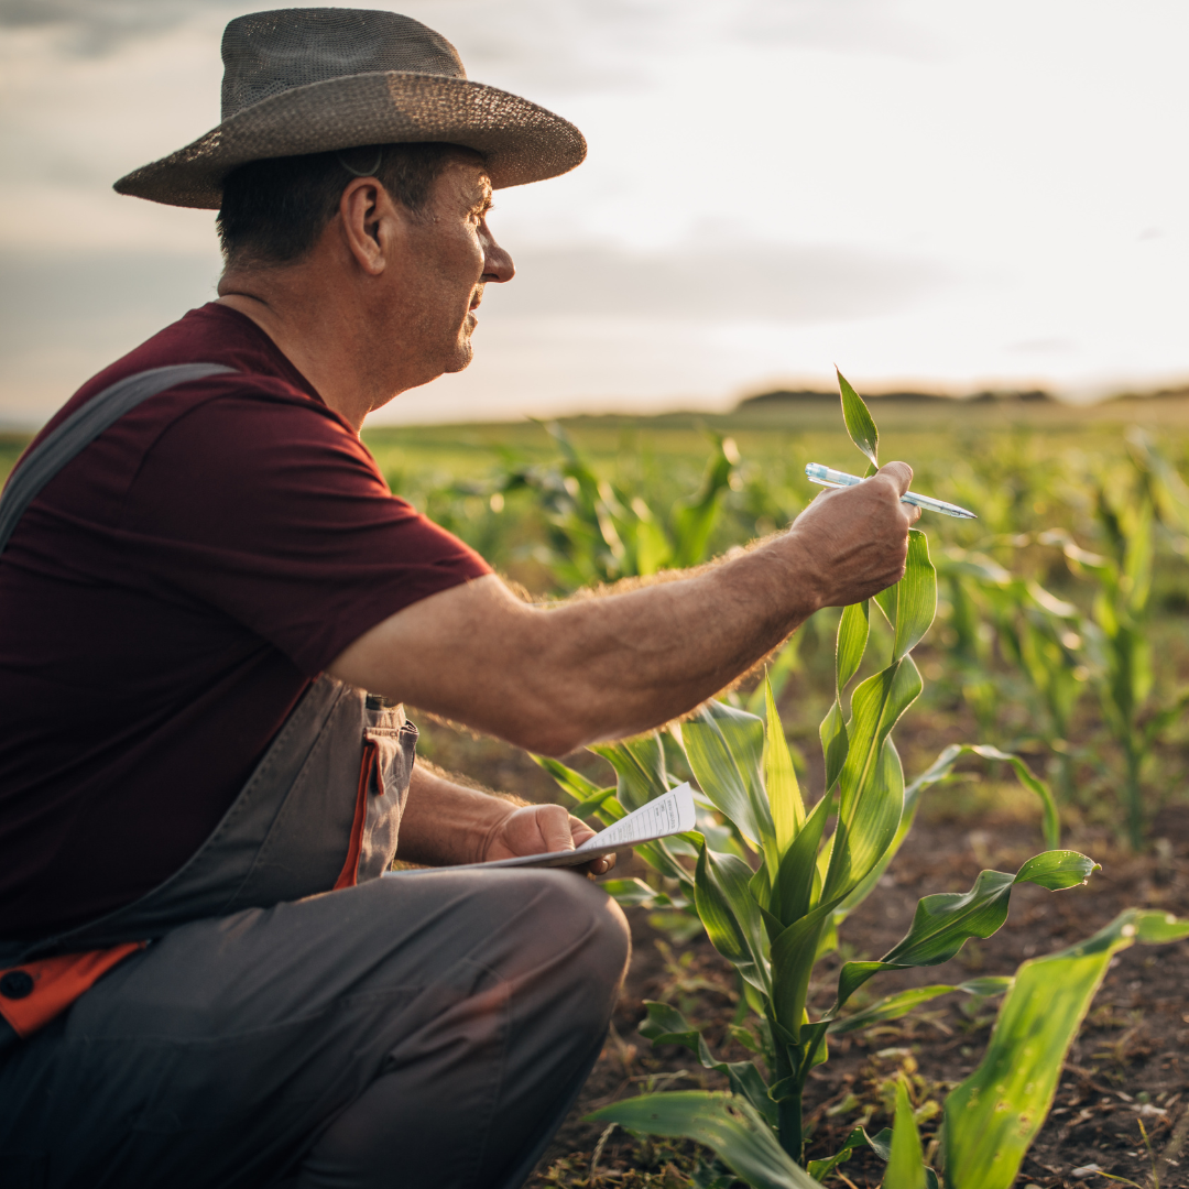
[[[591, 831], [414, 766], [401, 704], [553, 755], [655, 728], [895, 581], [911, 472], [673, 581], [521, 602], [358, 430], [466, 366], [512, 277], [490, 191], [580, 134], [390, 13], [244, 17], [224, 61], [224, 122], [117, 183], [220, 208], [219, 300], [0, 501], [4, 1183], [510, 1189], [627, 931], [573, 873], [451, 869]], [[379, 879], [394, 854], [441, 869]]]

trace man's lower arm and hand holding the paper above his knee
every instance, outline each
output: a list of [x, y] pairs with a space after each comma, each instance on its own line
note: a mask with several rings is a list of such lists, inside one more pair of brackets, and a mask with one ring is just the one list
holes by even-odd
[[[572, 850], [593, 833], [560, 805], [517, 805], [465, 788], [434, 765], [419, 760], [401, 814], [396, 857], [430, 867], [483, 863], [514, 855]], [[592, 860], [585, 869], [602, 875], [614, 866], [615, 855], [608, 855]]]

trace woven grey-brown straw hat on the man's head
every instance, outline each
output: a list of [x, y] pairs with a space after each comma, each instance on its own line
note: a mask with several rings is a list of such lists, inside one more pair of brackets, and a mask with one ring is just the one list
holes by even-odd
[[120, 194], [218, 209], [224, 178], [266, 157], [439, 140], [483, 153], [495, 188], [555, 177], [583, 134], [527, 99], [471, 82], [440, 33], [395, 12], [277, 8], [224, 32], [222, 122], [115, 183]]

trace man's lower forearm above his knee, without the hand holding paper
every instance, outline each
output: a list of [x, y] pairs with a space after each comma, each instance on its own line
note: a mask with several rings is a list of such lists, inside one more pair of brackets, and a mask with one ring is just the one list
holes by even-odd
[[483, 862], [489, 839], [516, 807], [515, 801], [465, 788], [434, 765], [417, 760], [401, 814], [396, 857], [429, 867]]

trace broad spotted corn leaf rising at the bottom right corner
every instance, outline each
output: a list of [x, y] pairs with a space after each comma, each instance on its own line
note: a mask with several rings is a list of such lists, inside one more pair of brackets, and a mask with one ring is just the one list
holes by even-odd
[[1025, 962], [979, 1068], [945, 1101], [945, 1184], [1008, 1189], [1052, 1106], [1065, 1053], [1111, 958], [1189, 937], [1189, 921], [1128, 908], [1094, 937]]

